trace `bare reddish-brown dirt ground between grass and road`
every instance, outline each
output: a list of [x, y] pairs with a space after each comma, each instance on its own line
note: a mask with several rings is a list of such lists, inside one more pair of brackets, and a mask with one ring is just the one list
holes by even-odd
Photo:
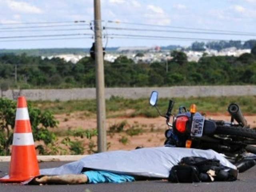
[[[64, 131], [64, 130], [76, 130], [82, 128], [84, 130], [96, 129], [97, 121], [96, 117], [88, 117], [84, 115], [84, 112], [76, 112], [72, 114], [62, 114], [55, 116], [59, 120], [58, 128], [54, 129], [55, 131]], [[230, 121], [230, 116], [228, 114], [206, 114], [206, 118], [212, 118], [215, 120], [226, 120]], [[256, 114], [245, 116], [248, 124], [251, 128], [256, 127]], [[120, 133], [107, 134], [107, 143], [108, 150], [133, 150], [137, 146], [142, 147], [154, 147], [154, 146], [163, 146], [165, 141], [164, 132], [167, 129], [165, 118], [145, 118], [145, 117], [118, 117], [118, 118], [107, 118], [107, 130], [110, 127], [116, 126], [121, 122], [125, 121], [126, 125], [124, 126], [124, 131]], [[129, 128], [140, 129], [138, 135], [130, 136], [125, 130]], [[83, 138], [84, 148], [86, 149], [84, 154], [88, 153], [89, 142], [93, 142], [95, 145], [97, 137], [92, 137], [91, 140]], [[93, 148], [96, 150], [96, 146]]]

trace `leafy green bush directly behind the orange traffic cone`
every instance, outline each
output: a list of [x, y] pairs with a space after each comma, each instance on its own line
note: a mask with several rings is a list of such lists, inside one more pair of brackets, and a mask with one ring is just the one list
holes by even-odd
[[[0, 155], [10, 155], [10, 145], [13, 139], [13, 130], [15, 124], [16, 102], [5, 98], [0, 98]], [[35, 141], [43, 141], [42, 144], [36, 146], [40, 154], [45, 154], [48, 144], [52, 144], [56, 138], [54, 133], [48, 128], [57, 126], [58, 121], [53, 115], [46, 111], [41, 112], [39, 109], [33, 108], [28, 104], [28, 113]]]

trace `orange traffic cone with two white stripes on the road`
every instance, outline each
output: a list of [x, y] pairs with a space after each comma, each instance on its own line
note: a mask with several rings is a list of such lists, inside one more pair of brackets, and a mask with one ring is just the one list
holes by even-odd
[[26, 98], [18, 97], [9, 176], [1, 182], [23, 182], [39, 175]]

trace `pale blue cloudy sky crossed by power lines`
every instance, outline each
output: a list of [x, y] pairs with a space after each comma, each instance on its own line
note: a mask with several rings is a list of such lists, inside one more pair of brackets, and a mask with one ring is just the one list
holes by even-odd
[[[93, 0], [0, 0], [0, 49], [89, 48]], [[256, 0], [100, 0], [104, 47], [256, 39]], [[75, 22], [78, 21], [78, 22]]]

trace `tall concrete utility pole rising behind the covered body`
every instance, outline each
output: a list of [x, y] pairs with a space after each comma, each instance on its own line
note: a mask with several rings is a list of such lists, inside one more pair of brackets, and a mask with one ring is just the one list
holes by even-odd
[[102, 27], [100, 15], [100, 0], [94, 0], [94, 38], [96, 64], [96, 100], [97, 100], [97, 130], [98, 152], [107, 150], [106, 139], [106, 106], [104, 88], [104, 60], [102, 49]]

